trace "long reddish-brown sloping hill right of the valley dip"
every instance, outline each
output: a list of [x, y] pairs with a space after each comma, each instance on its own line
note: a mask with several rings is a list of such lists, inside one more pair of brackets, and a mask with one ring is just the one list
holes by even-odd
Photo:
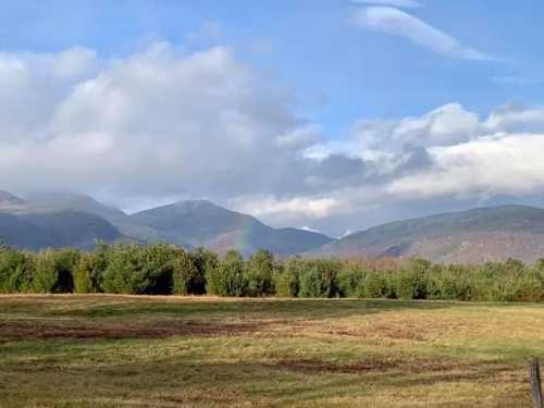
[[397, 221], [348, 235], [309, 254], [326, 257], [423, 257], [481, 263], [544, 257], [544, 210], [526, 206], [478, 208]]

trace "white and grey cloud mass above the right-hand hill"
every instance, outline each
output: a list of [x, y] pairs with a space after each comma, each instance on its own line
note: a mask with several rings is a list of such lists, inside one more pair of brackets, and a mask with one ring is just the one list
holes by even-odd
[[406, 213], [405, 207], [446, 197], [470, 206], [544, 193], [542, 151], [542, 108], [507, 104], [480, 118], [449, 103], [420, 116], [361, 120], [350, 139], [312, 146], [308, 154], [364, 158], [364, 176], [327, 197], [343, 203], [337, 217], [367, 217], [376, 207]]

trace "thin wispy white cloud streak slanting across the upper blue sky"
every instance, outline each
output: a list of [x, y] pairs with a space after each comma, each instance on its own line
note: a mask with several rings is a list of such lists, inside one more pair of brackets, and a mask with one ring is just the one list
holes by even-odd
[[358, 10], [354, 15], [354, 22], [362, 28], [405, 37], [445, 57], [496, 61], [493, 55], [467, 47], [449, 34], [394, 8], [369, 7]]

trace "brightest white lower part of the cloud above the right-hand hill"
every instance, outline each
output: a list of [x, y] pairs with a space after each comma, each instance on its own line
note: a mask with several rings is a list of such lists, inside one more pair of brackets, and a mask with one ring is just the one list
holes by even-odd
[[436, 165], [401, 177], [387, 193], [420, 198], [441, 195], [527, 195], [544, 188], [544, 134], [481, 137], [430, 150]]

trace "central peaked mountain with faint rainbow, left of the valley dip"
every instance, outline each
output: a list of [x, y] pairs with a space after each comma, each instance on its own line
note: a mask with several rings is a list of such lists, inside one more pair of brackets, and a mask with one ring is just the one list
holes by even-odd
[[325, 235], [297, 228], [272, 228], [254, 217], [210, 201], [182, 201], [129, 217], [132, 224], [156, 230], [171, 242], [249, 255], [265, 248], [280, 256], [308, 251], [332, 242]]

